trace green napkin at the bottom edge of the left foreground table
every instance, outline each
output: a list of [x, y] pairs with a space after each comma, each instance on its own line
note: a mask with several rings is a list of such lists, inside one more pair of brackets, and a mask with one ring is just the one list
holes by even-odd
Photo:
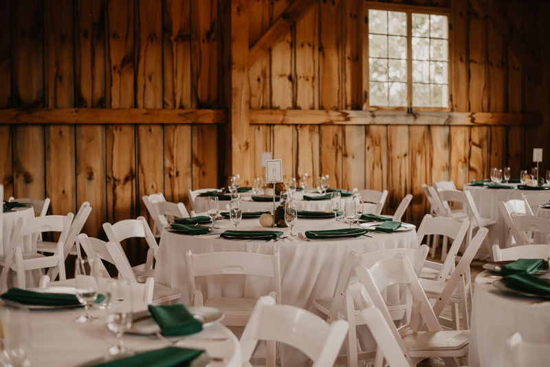
[[94, 367], [188, 367], [203, 352], [203, 350], [168, 346], [150, 352], [138, 353], [131, 357], [96, 364]]

